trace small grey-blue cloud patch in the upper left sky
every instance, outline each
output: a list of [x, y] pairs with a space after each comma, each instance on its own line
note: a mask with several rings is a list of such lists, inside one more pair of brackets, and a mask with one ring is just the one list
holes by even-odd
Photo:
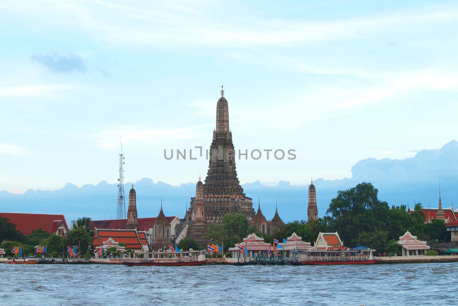
[[31, 59], [56, 73], [86, 71], [86, 65], [83, 63], [82, 58], [76, 54], [60, 55], [50, 52], [48, 54], [33, 54]]

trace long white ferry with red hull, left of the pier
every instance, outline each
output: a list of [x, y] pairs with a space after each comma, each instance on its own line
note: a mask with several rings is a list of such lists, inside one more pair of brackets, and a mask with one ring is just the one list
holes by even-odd
[[204, 251], [147, 252], [147, 258], [131, 258], [122, 263], [126, 266], [200, 266], [207, 263]]

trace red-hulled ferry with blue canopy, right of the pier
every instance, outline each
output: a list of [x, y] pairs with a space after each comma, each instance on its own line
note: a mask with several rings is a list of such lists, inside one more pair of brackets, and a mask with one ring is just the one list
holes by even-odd
[[297, 255], [298, 262], [303, 265], [323, 265], [323, 264], [373, 264], [374, 249], [367, 247], [356, 247], [353, 249], [320, 249], [311, 248], [292, 252]]

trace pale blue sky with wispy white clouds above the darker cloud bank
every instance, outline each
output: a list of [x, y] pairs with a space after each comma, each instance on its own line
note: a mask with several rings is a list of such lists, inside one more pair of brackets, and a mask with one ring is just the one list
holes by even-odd
[[8, 193], [114, 184], [121, 138], [126, 182], [195, 184], [222, 84], [236, 152], [296, 156], [236, 160], [243, 184], [342, 180], [457, 138], [455, 1], [18, 0], [0, 28]]

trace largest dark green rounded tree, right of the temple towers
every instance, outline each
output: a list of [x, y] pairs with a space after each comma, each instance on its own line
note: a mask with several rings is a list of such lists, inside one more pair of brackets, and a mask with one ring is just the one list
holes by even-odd
[[333, 228], [347, 246], [355, 245], [358, 234], [387, 228], [388, 203], [377, 198], [378, 190], [371, 183], [339, 190], [331, 200], [326, 214], [333, 219]]

